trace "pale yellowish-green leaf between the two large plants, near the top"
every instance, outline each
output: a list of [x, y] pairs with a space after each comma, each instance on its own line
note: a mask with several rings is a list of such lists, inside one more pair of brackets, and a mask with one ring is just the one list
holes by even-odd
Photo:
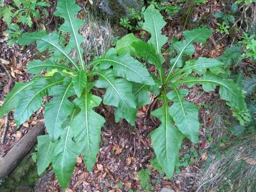
[[123, 36], [121, 39], [119, 39], [116, 42], [116, 52], [120, 55], [120, 54], [124, 54], [124, 53], [131, 53], [134, 51], [133, 47], [131, 46], [132, 42], [137, 42], [139, 41], [139, 39], [137, 37], [135, 37], [132, 33], [131, 34], [127, 34], [125, 36]]

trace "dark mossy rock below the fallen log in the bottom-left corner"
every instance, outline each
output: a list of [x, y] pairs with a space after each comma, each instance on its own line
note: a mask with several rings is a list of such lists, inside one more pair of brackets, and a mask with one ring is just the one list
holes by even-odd
[[36, 163], [28, 154], [19, 165], [6, 177], [0, 186], [1, 192], [34, 191], [34, 185], [38, 181]]

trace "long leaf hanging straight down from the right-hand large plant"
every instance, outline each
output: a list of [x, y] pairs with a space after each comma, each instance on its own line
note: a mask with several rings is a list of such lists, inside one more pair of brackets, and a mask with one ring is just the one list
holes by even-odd
[[179, 162], [179, 149], [183, 139], [182, 133], [173, 125], [169, 114], [166, 94], [162, 94], [163, 106], [154, 110], [151, 115], [161, 121], [161, 125], [150, 133], [156, 158], [167, 177], [171, 178], [175, 165]]

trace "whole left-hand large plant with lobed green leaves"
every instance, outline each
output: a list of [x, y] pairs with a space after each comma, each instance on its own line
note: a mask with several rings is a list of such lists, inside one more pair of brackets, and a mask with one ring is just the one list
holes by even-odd
[[[44, 95], [52, 97], [45, 103], [48, 134], [38, 137], [37, 166], [38, 174], [42, 174], [52, 163], [62, 188], [68, 185], [77, 156], [83, 154], [88, 170], [92, 170], [97, 157], [105, 119], [93, 110], [102, 99], [92, 94], [92, 87], [106, 88], [103, 103], [115, 107], [117, 122], [124, 118], [134, 125], [137, 103], [132, 94], [133, 82], [155, 85], [144, 64], [129, 53], [118, 55], [115, 49], [86, 66], [81, 47], [84, 39], [78, 33], [83, 21], [75, 17], [80, 10], [75, 0], [58, 1], [54, 15], [65, 20], [59, 30], [68, 34], [66, 46], [59, 43], [60, 33], [47, 34], [45, 30], [22, 34], [17, 40], [20, 45], [36, 43], [39, 51], [48, 51], [51, 57], [28, 63], [28, 73], [38, 75], [29, 82], [16, 83], [0, 109], [0, 116], [15, 109], [19, 127], [41, 107]], [[75, 58], [70, 56], [71, 51], [75, 51]], [[39, 75], [43, 70], [50, 73]]]

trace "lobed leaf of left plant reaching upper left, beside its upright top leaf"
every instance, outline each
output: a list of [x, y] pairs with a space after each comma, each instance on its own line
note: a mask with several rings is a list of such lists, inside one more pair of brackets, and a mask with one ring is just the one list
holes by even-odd
[[29, 45], [34, 42], [37, 43], [37, 49], [40, 52], [43, 52], [46, 49], [51, 49], [54, 51], [55, 57], [63, 54], [68, 59], [68, 61], [72, 63], [74, 67], [76, 67], [76, 69], [79, 69], [75, 61], [68, 55], [70, 49], [65, 49], [59, 45], [59, 35], [57, 33], [47, 34], [45, 30], [41, 30], [33, 33], [22, 34], [21, 37], [17, 40], [17, 43], [20, 45]]

